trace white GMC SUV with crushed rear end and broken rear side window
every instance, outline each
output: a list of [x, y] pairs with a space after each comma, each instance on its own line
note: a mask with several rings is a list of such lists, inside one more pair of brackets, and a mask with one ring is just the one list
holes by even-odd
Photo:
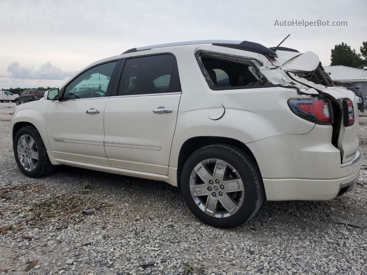
[[327, 200], [360, 169], [355, 94], [313, 52], [249, 41], [134, 48], [15, 108], [19, 169], [64, 164], [178, 186], [205, 223], [234, 227], [264, 197]]

